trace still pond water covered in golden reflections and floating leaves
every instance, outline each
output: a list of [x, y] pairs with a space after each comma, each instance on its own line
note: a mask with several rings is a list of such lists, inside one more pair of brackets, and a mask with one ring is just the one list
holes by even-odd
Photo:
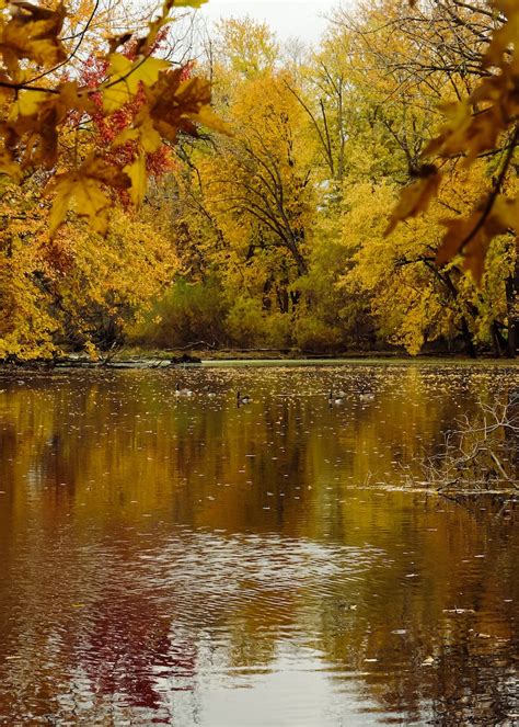
[[515, 503], [402, 487], [518, 385], [430, 364], [1, 374], [0, 724], [518, 725]]

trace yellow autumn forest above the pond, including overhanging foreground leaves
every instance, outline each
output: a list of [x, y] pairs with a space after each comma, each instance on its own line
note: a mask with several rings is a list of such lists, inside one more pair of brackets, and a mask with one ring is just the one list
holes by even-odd
[[[504, 19], [480, 1], [367, 0], [309, 48], [251, 19], [209, 32], [196, 4], [150, 20], [14, 3], [4, 21], [0, 359], [514, 355], [512, 229], [494, 220], [485, 254], [480, 238], [438, 251], [488, 185], [514, 195], [515, 143], [463, 122], [470, 163], [455, 134], [439, 163], [430, 149], [488, 78]], [[405, 196], [416, 181], [426, 200]]]

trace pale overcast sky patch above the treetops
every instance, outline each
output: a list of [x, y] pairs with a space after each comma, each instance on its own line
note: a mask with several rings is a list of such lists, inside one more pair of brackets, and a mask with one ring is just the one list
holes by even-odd
[[208, 21], [250, 15], [266, 22], [281, 41], [297, 37], [314, 43], [326, 24], [323, 15], [339, 3], [341, 0], [209, 0], [200, 13]]

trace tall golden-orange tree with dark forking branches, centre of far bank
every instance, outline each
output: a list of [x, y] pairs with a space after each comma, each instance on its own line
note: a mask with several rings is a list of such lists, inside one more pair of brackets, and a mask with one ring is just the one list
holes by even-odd
[[[288, 72], [272, 69], [276, 43], [263, 25], [231, 21], [220, 30], [212, 79], [231, 136], [177, 148], [177, 229], [188, 240], [181, 257], [193, 261], [196, 254], [192, 272], [218, 269], [229, 294], [258, 302], [258, 316], [262, 309], [287, 314], [300, 298], [314, 211], [304, 112], [289, 91]], [[239, 37], [244, 57], [255, 59], [247, 72], [234, 68], [241, 56], [229, 37]]]

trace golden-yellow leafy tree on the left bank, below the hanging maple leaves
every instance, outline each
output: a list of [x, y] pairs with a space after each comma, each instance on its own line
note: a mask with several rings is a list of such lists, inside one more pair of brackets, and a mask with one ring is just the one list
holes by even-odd
[[[66, 344], [94, 352], [169, 282], [177, 259], [148, 206], [115, 205], [105, 238], [71, 221], [49, 239], [36, 181], [4, 189], [0, 248], [0, 359], [50, 359]], [[139, 275], [135, 271], [139, 271]]]

